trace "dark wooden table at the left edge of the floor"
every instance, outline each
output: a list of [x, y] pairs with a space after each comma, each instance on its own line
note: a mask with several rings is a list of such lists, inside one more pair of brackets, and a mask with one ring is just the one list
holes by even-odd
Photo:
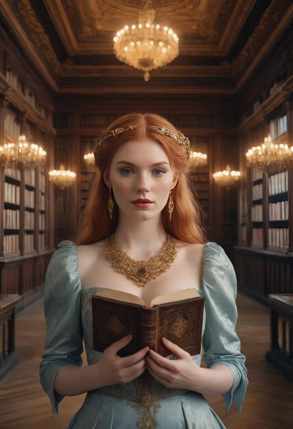
[[17, 294], [0, 295], [0, 380], [4, 378], [18, 362], [14, 352], [15, 307], [21, 297]]

